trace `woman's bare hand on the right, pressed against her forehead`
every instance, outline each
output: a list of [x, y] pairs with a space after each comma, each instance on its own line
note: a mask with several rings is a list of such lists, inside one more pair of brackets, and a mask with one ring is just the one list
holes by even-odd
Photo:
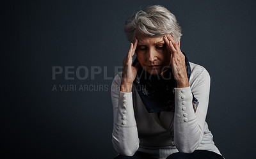
[[171, 34], [164, 36], [164, 42], [171, 54], [172, 72], [174, 79], [177, 81], [177, 87], [188, 87], [189, 81], [186, 71], [185, 56], [180, 50], [180, 42], [176, 43]]

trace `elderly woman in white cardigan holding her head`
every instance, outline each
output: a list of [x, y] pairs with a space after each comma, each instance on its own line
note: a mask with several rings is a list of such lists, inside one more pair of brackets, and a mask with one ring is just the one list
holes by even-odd
[[175, 16], [149, 6], [124, 30], [131, 47], [111, 89], [116, 159], [223, 158], [205, 122], [209, 73], [180, 50]]

